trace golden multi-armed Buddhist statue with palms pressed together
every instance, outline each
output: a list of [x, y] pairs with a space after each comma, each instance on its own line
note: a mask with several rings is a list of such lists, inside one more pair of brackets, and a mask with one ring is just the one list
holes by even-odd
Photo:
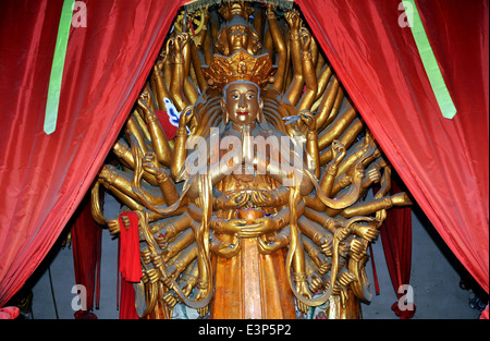
[[299, 12], [249, 1], [176, 19], [113, 154], [93, 212], [114, 235], [130, 224], [103, 217], [102, 184], [137, 214], [146, 318], [359, 318], [369, 243], [411, 204], [388, 195]]

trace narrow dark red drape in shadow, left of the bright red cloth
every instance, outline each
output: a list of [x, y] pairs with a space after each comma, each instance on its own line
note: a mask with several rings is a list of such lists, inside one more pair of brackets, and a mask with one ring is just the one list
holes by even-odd
[[75, 313], [75, 317], [95, 317], [90, 312], [94, 309], [94, 303], [96, 308], [99, 307], [102, 229], [91, 216], [89, 195], [84, 197], [72, 220], [75, 282], [84, 285], [87, 293], [86, 309]]

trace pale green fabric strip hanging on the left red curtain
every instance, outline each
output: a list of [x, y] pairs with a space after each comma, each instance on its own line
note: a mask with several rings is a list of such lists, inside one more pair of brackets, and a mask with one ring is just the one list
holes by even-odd
[[52, 59], [51, 75], [49, 77], [48, 100], [45, 113], [45, 133], [54, 132], [58, 120], [58, 106], [60, 103], [61, 78], [63, 77], [64, 59], [72, 25], [73, 4], [75, 0], [64, 0], [61, 10], [60, 26], [58, 27], [57, 45]]

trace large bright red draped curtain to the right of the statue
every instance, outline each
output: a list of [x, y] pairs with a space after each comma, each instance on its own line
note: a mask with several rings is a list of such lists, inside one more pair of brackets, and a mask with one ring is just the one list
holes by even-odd
[[488, 1], [416, 1], [453, 120], [440, 112], [411, 28], [399, 25], [401, 1], [296, 2], [403, 182], [488, 292]]

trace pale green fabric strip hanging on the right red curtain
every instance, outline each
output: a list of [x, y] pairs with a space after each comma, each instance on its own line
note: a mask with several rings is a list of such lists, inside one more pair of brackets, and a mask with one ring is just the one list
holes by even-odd
[[[407, 7], [407, 3], [411, 4], [412, 9]], [[414, 35], [415, 44], [417, 45], [418, 52], [420, 53], [424, 68], [426, 69], [427, 76], [429, 77], [430, 85], [436, 95], [442, 115], [446, 119], [452, 119], [456, 114], [456, 108], [454, 107], [451, 95], [445, 86], [444, 78], [442, 77], [441, 70], [439, 69], [438, 61], [430, 47], [415, 0], [404, 0], [403, 5], [412, 28], [412, 34]]]

